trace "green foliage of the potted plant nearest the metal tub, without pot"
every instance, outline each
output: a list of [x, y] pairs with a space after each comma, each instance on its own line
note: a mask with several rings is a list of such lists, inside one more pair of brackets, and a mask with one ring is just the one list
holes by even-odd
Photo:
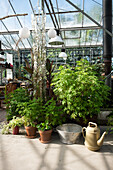
[[51, 99], [42, 106], [42, 121], [37, 125], [38, 130], [49, 130], [55, 125], [60, 125], [65, 121], [62, 106], [57, 106], [56, 101]]

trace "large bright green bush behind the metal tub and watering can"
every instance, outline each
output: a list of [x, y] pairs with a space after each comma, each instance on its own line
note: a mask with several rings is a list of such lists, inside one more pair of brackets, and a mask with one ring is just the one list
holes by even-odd
[[54, 74], [54, 93], [62, 101], [64, 111], [71, 118], [92, 117], [108, 99], [109, 87], [96, 76], [93, 66], [87, 60], [77, 62], [75, 69], [60, 66]]

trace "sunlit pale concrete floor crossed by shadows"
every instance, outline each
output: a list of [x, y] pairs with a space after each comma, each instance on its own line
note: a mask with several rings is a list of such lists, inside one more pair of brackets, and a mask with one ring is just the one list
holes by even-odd
[[[3, 113], [0, 110], [1, 122], [5, 119]], [[26, 138], [23, 129], [20, 135], [0, 133], [0, 170], [113, 170], [112, 135], [106, 135], [98, 152], [82, 143], [63, 144], [55, 132], [49, 144], [40, 143], [38, 134], [35, 139]]]

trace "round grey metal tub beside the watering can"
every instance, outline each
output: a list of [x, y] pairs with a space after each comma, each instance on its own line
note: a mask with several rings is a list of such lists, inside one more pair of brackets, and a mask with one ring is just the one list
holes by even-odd
[[79, 143], [82, 127], [78, 124], [63, 124], [56, 127], [60, 140], [65, 144]]

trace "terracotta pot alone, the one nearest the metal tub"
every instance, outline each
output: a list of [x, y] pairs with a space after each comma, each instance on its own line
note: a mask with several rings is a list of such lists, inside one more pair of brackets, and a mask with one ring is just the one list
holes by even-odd
[[47, 131], [39, 131], [40, 134], [40, 142], [41, 143], [49, 143], [51, 141], [51, 133], [52, 133], [52, 129], [51, 130], [47, 130]]

